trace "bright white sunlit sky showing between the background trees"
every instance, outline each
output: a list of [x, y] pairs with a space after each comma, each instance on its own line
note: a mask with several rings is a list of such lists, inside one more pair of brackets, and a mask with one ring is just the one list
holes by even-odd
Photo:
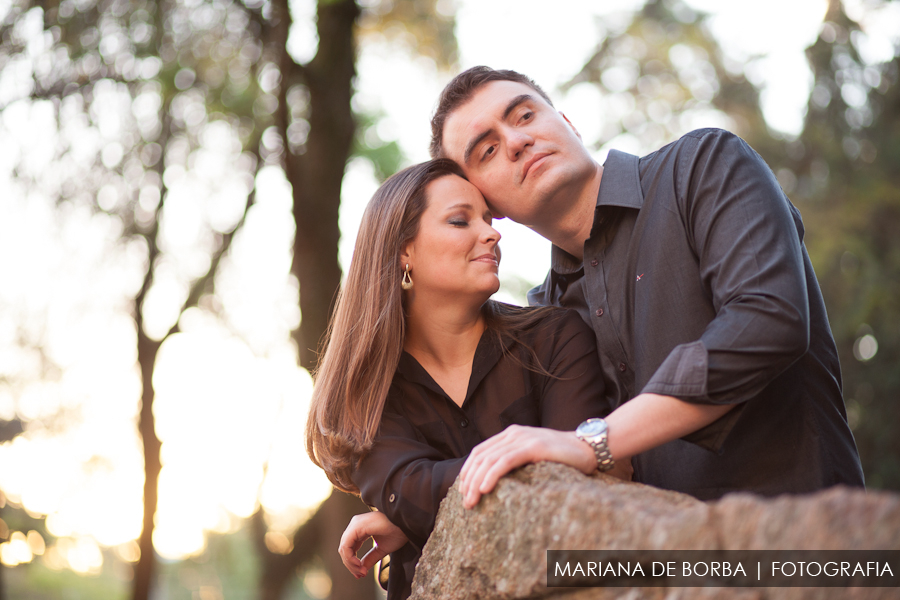
[[[768, 124], [788, 137], [796, 134], [810, 94], [803, 51], [822, 31], [826, 0], [688, 2], [713, 15], [711, 28], [725, 52], [746, 64], [747, 76], [763, 88]], [[641, 0], [558, 0], [553, 10], [543, 0], [455, 4], [460, 68], [488, 64], [534, 77], [589, 147], [595, 148], [609, 118], [633, 108], [625, 94], [604, 96], [587, 84], [566, 94], [557, 88], [578, 72], [598, 40], [628, 24]], [[872, 11], [865, 4], [845, 2], [864, 29], [853, 43], [874, 63], [893, 56], [900, 3]], [[0, 0], [0, 19], [11, 6]], [[300, 61], [317, 47], [315, 7], [313, 0], [291, 2], [289, 45]], [[159, 175], [145, 168], [158, 164], [165, 165], [168, 187], [163, 255], [146, 298], [144, 330], [156, 340], [174, 326], [180, 332], [161, 346], [153, 381], [163, 463], [154, 544], [166, 558], [196, 555], [209, 532], [233, 532], [262, 506], [271, 529], [266, 544], [290, 551], [289, 534], [332, 488], [304, 447], [312, 380], [297, 367], [289, 338], [301, 315], [299, 284], [290, 274], [293, 201], [284, 173], [266, 166], [254, 181], [256, 158], [242, 152], [238, 128], [207, 114], [190, 90], [177, 96], [172, 115], [196, 127], [199, 146], [177, 139], [162, 157], [159, 145], [148, 144], [146, 155], [128, 167], [140, 136], [154, 139], [160, 84], [141, 83], [132, 100], [125, 84], [101, 80], [93, 86], [90, 119], [73, 94], [60, 103], [57, 121], [50, 102], [20, 99], [33, 86], [31, 58], [43, 51], [42, 28], [42, 12], [34, 9], [11, 33], [27, 42], [25, 57], [0, 69], [0, 418], [26, 422], [24, 434], [0, 444], [0, 488], [26, 511], [46, 515], [56, 540], [10, 532], [0, 544], [0, 562], [14, 566], [43, 555], [51, 569], [95, 574], [103, 567], [103, 548], [114, 548], [128, 563], [140, 557], [134, 540], [142, 523], [142, 389], [132, 311], [149, 250], [117, 211], [136, 198], [137, 226], [150, 222], [162, 188]], [[688, 75], [703, 62], [686, 47], [676, 48], [672, 59]], [[151, 78], [160, 64], [146, 59], [140, 71]], [[626, 57], [604, 81], [623, 89], [636, 64]], [[195, 75], [181, 72], [179, 83]], [[426, 160], [431, 112], [451, 76], [431, 59], [410, 59], [386, 42], [367, 44], [359, 51], [354, 105], [384, 114], [379, 137], [397, 141], [409, 162]], [[700, 79], [692, 91], [703, 99], [711, 91]], [[851, 103], [861, 100], [861, 88], [842, 93]], [[731, 125], [704, 107], [678, 126]], [[668, 122], [667, 111], [664, 102], [651, 106], [648, 124]], [[623, 134], [594, 156], [602, 161], [612, 147], [651, 150], [643, 144]], [[60, 148], [66, 149], [61, 155]], [[69, 195], [64, 184], [89, 172], [98, 158], [120, 172], [94, 191]], [[340, 260], [347, 266], [378, 182], [362, 159], [352, 160], [345, 173]], [[209, 267], [211, 252], [235, 228], [254, 187], [255, 204], [222, 260], [215, 290], [179, 314], [191, 281]], [[503, 236], [504, 284], [497, 298], [522, 303], [528, 287], [546, 274], [549, 242], [508, 220], [495, 227]], [[875, 337], [861, 333], [855, 357], [868, 361], [877, 351]], [[324, 598], [331, 581], [312, 570], [304, 586]]]

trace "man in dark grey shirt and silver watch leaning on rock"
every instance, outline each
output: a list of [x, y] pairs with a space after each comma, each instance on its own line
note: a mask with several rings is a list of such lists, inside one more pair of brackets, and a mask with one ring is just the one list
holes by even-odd
[[485, 441], [460, 474], [467, 506], [563, 456], [630, 459], [636, 481], [700, 499], [863, 485], [800, 215], [740, 138], [700, 130], [600, 166], [533, 81], [475, 67], [444, 89], [431, 153], [553, 242], [529, 300], [579, 311], [617, 406], [599, 429]]

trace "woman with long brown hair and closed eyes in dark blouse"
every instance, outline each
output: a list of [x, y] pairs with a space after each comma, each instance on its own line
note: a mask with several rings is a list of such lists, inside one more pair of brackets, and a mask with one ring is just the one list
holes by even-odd
[[[610, 410], [577, 313], [488, 300], [499, 241], [483, 197], [447, 160], [397, 173], [363, 215], [307, 449], [335, 486], [402, 531], [384, 540], [396, 550], [391, 599], [409, 595], [440, 502], [476, 446], [512, 425], [571, 431]], [[591, 456], [587, 467], [584, 455], [554, 458], [591, 472]]]

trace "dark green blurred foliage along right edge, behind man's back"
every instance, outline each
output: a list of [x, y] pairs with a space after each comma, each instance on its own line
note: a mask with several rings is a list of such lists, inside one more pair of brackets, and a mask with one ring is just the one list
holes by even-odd
[[[868, 65], [833, 2], [807, 51], [815, 82], [784, 160], [840, 353], [869, 487], [900, 489], [900, 56]], [[866, 338], [866, 336], [871, 336]], [[877, 343], [875, 351], [874, 343]], [[872, 354], [874, 351], [874, 354]]]

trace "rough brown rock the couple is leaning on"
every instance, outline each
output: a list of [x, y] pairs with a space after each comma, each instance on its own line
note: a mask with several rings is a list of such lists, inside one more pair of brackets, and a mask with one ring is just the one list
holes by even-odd
[[547, 588], [548, 549], [900, 550], [900, 495], [836, 487], [716, 502], [541, 463], [473, 510], [454, 485], [413, 582], [415, 600], [900, 598], [900, 588]]

